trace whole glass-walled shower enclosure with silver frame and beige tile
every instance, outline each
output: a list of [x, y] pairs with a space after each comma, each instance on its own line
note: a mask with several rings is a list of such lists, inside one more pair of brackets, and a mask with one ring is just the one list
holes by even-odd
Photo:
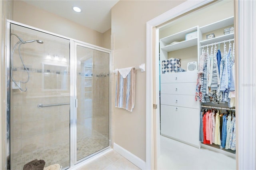
[[8, 168], [62, 169], [110, 147], [110, 51], [8, 21]]

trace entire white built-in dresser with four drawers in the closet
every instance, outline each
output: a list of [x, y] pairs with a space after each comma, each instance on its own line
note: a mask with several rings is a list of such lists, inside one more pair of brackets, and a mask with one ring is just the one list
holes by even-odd
[[197, 71], [161, 74], [161, 135], [200, 147], [199, 102], [195, 101]]

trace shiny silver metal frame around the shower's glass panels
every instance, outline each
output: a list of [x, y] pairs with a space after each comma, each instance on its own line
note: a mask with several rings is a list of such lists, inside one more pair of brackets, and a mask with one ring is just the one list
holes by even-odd
[[[86, 42], [82, 42], [79, 40], [75, 40], [72, 38], [68, 38], [59, 34], [55, 34], [52, 32], [48, 32], [46, 30], [42, 30], [39, 28], [35, 28], [32, 26], [28, 26], [26, 24], [21, 24], [19, 22], [15, 22], [12, 20], [7, 20], [7, 30], [6, 30], [6, 89], [7, 89], [7, 93], [6, 93], [6, 100], [7, 100], [7, 110], [6, 110], [6, 114], [7, 114], [7, 140], [6, 140], [6, 156], [10, 156], [10, 26], [11, 24], [16, 24], [18, 26], [22, 26], [25, 28], [29, 28], [29, 29], [33, 29], [39, 32], [43, 32], [46, 34], [50, 34], [52, 36], [58, 36], [60, 38], [64, 38], [67, 40], [70, 40], [70, 168], [69, 169], [73, 169], [76, 167], [79, 167], [81, 164], [86, 164], [86, 162], [90, 162], [91, 160], [97, 158], [100, 156], [100, 153], [104, 153], [104, 152], [109, 152], [111, 149], [111, 139], [112, 139], [112, 135], [111, 135], [111, 115], [112, 115], [112, 102], [111, 102], [111, 80], [112, 80], [112, 50], [110, 49], [106, 49], [103, 47], [99, 47], [96, 45], [92, 45], [90, 43], [86, 43]], [[94, 50], [98, 50], [98, 51], [102, 51], [105, 53], [109, 54], [109, 146], [106, 148], [103, 148], [102, 150], [99, 150], [98, 152], [95, 152], [94, 154], [91, 154], [89, 156], [86, 156], [84, 158], [82, 158], [81, 160], [76, 160], [76, 123], [77, 123], [77, 118], [76, 118], [76, 108], [77, 108], [77, 95], [76, 95], [76, 46], [80, 45], [82, 47], [87, 47], [90, 49], [94, 49]], [[10, 161], [7, 162], [7, 166], [10, 167]]]

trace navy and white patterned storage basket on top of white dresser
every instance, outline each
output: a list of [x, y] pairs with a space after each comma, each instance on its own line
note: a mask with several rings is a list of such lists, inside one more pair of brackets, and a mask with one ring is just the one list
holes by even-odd
[[180, 59], [169, 58], [162, 61], [162, 73], [176, 73], [180, 68]]

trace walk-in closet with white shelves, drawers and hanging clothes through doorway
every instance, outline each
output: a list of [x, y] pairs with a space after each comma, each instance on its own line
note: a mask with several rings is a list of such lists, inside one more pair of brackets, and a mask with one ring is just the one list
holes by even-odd
[[[194, 162], [207, 152], [206, 169], [236, 169], [233, 3], [213, 2], [159, 27], [160, 155], [175, 157], [181, 147], [184, 161], [186, 151]], [[174, 169], [203, 168], [172, 159]]]

